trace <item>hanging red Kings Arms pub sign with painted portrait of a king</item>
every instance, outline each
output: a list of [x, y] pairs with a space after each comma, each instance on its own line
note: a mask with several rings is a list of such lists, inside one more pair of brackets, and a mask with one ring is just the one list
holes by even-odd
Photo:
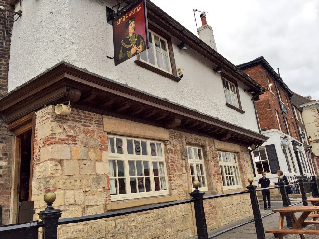
[[113, 43], [115, 66], [149, 48], [144, 0], [136, 1], [113, 19]]

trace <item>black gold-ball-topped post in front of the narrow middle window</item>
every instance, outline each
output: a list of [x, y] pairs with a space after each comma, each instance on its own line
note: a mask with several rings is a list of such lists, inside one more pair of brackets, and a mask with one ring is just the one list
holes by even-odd
[[197, 238], [208, 239], [204, 203], [203, 203], [203, 196], [205, 192], [199, 191], [198, 190], [199, 186], [200, 186], [200, 182], [198, 180], [195, 180], [193, 182], [193, 187], [195, 188], [195, 191], [189, 193], [189, 195], [193, 199], [196, 199], [196, 201], [194, 201], [194, 211], [195, 211], [195, 220], [196, 220], [196, 228], [197, 228]]

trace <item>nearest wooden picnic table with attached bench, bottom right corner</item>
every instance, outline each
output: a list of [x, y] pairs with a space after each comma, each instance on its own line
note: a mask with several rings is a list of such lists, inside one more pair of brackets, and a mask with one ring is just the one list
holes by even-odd
[[[266, 230], [266, 233], [273, 233], [275, 238], [283, 239], [284, 235], [299, 234], [301, 239], [305, 239], [306, 235], [319, 235], [317, 229], [302, 229], [309, 224], [319, 224], [319, 221], [307, 221], [307, 217], [313, 212], [319, 212], [319, 206], [286, 206], [278, 209], [273, 209], [273, 212], [279, 212], [279, 228]], [[296, 212], [302, 212], [301, 216], [297, 219]], [[284, 229], [284, 217], [291, 215], [293, 219], [293, 227]], [[313, 218], [319, 217], [319, 214], [311, 214]]]

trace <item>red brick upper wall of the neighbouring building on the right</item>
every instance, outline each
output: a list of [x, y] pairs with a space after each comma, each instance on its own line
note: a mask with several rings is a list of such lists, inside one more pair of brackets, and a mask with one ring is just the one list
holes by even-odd
[[[249, 73], [249, 76], [257, 81], [259, 84], [267, 88], [268, 80], [269, 83], [272, 83], [270, 87], [268, 87], [268, 91], [260, 96], [260, 100], [255, 102], [258, 119], [260, 123], [260, 127], [262, 131], [270, 130], [270, 129], [278, 129], [287, 134], [286, 125], [284, 123], [284, 118], [281, 111], [281, 106], [278, 101], [278, 96], [276, 92], [275, 82], [271, 78], [271, 76], [263, 69], [262, 66], [254, 66], [249, 69], [243, 70], [245, 73]], [[271, 89], [270, 89], [271, 88]], [[288, 115], [285, 114], [285, 118], [288, 124], [288, 128], [290, 131], [290, 135], [297, 140], [300, 140], [298, 130], [296, 127], [296, 122], [293, 116], [293, 109], [291, 107], [290, 99], [288, 94], [277, 84], [277, 88], [279, 91], [279, 95], [281, 101], [287, 107]], [[278, 114], [278, 119], [280, 123], [280, 128], [278, 124], [278, 120], [276, 117], [276, 111]], [[264, 128], [263, 128], [264, 127]]]

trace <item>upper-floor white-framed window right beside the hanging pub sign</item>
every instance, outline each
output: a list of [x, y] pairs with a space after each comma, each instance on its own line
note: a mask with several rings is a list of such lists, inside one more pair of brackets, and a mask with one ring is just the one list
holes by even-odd
[[140, 60], [172, 73], [167, 40], [149, 30], [150, 48], [140, 53]]

